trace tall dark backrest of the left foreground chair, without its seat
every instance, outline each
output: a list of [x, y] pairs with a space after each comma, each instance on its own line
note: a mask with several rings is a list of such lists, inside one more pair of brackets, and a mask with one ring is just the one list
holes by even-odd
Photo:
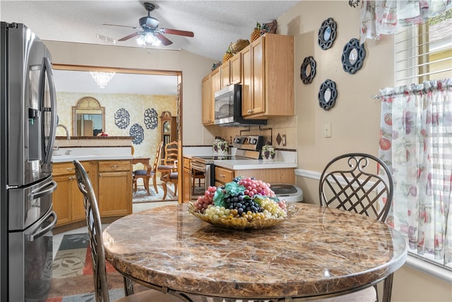
[[73, 161], [76, 166], [78, 189], [83, 194], [86, 225], [90, 236], [91, 257], [93, 258], [93, 281], [96, 302], [109, 302], [107, 272], [105, 269], [105, 250], [102, 241], [102, 223], [100, 221], [97, 199], [94, 194], [88, 173], [79, 161]]

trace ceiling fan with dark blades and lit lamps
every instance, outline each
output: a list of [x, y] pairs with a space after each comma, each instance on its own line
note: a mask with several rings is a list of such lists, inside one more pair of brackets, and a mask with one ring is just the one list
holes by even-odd
[[146, 11], [148, 11], [148, 16], [145, 17], [141, 17], [138, 21], [138, 23], [140, 24], [140, 27], [133, 27], [133, 26], [125, 26], [125, 25], [115, 25], [115, 24], [104, 24], [104, 25], [111, 25], [111, 26], [122, 26], [122, 27], [126, 27], [126, 28], [135, 28], [137, 30], [136, 33], [132, 33], [130, 35], [126, 35], [126, 37], [121, 37], [121, 39], [119, 39], [118, 41], [126, 41], [131, 39], [132, 37], [136, 37], [138, 35], [141, 35], [141, 37], [143, 37], [143, 42], [146, 43], [148, 42], [148, 38], [151, 37], [155, 37], [157, 38], [158, 41], [160, 41], [162, 43], [162, 45], [171, 45], [172, 41], [169, 40], [167, 37], [165, 37], [165, 35], [163, 35], [164, 33], [166, 34], [170, 34], [170, 35], [183, 35], [185, 37], [194, 37], [194, 33], [191, 31], [186, 31], [186, 30], [174, 30], [174, 29], [169, 29], [169, 28], [158, 28], [159, 25], [159, 21], [150, 16], [150, 12], [153, 11], [155, 9], [155, 5], [150, 3], [150, 2], [144, 2], [143, 6], [145, 8]]

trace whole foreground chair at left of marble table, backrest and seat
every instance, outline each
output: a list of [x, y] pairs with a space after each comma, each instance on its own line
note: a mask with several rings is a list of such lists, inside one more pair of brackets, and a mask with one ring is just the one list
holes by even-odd
[[[109, 302], [105, 250], [102, 239], [102, 224], [100, 221], [97, 199], [93, 190], [91, 180], [85, 168], [79, 161], [73, 161], [76, 166], [76, 178], [78, 189], [83, 194], [83, 204], [85, 206], [86, 225], [90, 236], [90, 250], [93, 260], [93, 284], [96, 302]], [[124, 277], [124, 291], [126, 294], [133, 293], [131, 280]], [[149, 289], [136, 294], [119, 298], [118, 302], [138, 302], [138, 301], [168, 301], [180, 302], [181, 299], [171, 294]]]

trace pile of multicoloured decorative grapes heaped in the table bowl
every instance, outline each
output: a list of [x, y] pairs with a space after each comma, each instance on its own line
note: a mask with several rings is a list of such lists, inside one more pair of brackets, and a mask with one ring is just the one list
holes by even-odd
[[192, 204], [195, 211], [211, 219], [287, 218], [285, 200], [276, 198], [268, 183], [255, 178], [234, 178], [222, 187], [208, 187]]

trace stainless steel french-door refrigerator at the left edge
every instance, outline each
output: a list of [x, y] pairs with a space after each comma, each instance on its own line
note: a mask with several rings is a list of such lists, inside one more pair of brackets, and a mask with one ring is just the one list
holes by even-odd
[[44, 301], [57, 222], [51, 57], [23, 24], [1, 22], [0, 40], [0, 300]]

